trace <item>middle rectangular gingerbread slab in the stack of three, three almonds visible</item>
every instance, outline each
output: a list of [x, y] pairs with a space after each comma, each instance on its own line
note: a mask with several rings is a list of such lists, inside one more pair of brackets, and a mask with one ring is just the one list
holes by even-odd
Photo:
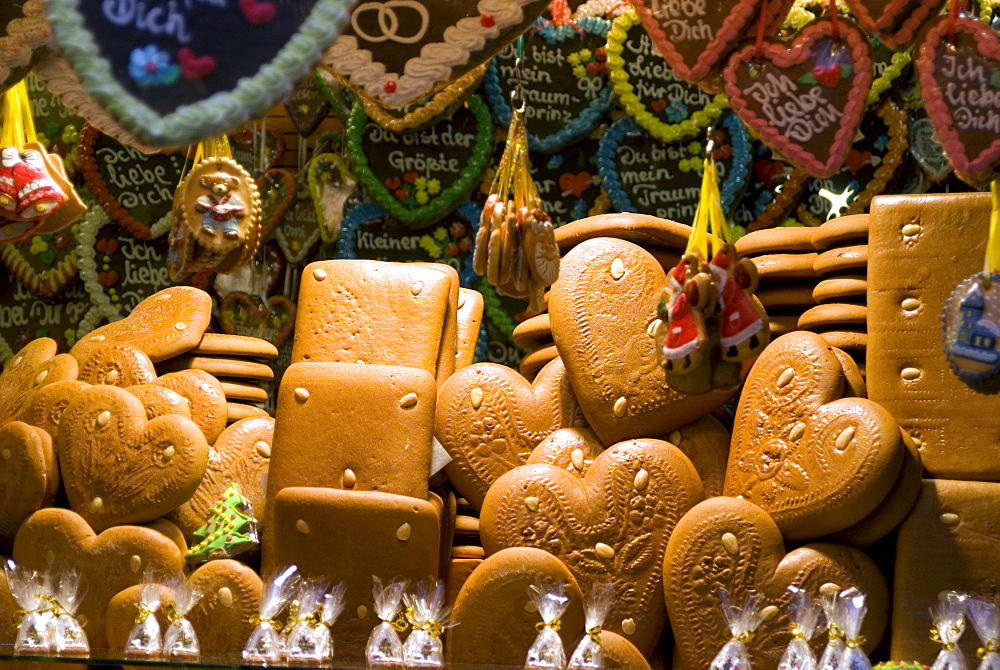
[[289, 486], [427, 499], [437, 385], [423, 370], [296, 363], [278, 392], [268, 504]]

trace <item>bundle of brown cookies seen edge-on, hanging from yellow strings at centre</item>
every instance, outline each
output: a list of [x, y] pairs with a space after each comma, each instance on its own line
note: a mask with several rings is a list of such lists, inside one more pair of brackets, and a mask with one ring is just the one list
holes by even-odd
[[[524, 41], [518, 41], [523, 52]], [[519, 54], [520, 55], [520, 54]], [[515, 65], [520, 68], [521, 59]], [[528, 314], [544, 310], [545, 289], [559, 277], [559, 247], [552, 220], [531, 178], [524, 88], [511, 93], [507, 148], [490, 188], [476, 234], [473, 268], [496, 289], [528, 300]]]

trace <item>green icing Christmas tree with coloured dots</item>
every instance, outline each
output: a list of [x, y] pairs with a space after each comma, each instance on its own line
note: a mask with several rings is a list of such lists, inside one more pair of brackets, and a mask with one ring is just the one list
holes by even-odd
[[257, 546], [257, 519], [236, 484], [230, 484], [219, 496], [208, 523], [196, 530], [194, 536], [198, 544], [184, 556], [191, 563], [232, 558]]

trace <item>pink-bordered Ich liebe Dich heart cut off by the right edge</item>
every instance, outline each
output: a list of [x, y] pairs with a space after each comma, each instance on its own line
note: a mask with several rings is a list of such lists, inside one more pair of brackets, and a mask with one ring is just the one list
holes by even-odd
[[[954, 35], [954, 38], [951, 36]], [[931, 23], [916, 59], [927, 116], [958, 175], [970, 184], [992, 178], [1000, 163], [1000, 37], [968, 17]]]

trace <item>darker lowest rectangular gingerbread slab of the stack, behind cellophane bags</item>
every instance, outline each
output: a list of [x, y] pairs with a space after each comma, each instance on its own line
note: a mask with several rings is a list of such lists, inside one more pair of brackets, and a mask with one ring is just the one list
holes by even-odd
[[333, 633], [340, 659], [364, 658], [379, 623], [372, 575], [411, 584], [438, 576], [441, 508], [426, 500], [373, 491], [289, 488], [274, 501], [265, 531], [263, 574], [297, 565], [306, 577], [347, 585], [346, 608]]

